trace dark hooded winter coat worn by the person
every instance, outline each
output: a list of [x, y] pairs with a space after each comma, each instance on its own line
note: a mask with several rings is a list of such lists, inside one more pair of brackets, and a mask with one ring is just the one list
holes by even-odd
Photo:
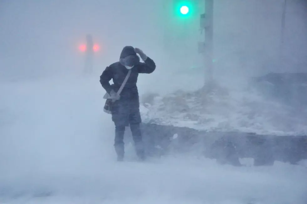
[[[127, 57], [123, 49], [121, 58]], [[131, 51], [131, 50], [130, 50]], [[128, 56], [134, 55], [134, 53], [128, 53]], [[136, 56], [136, 54], [135, 54]], [[138, 94], [138, 74], [139, 73], [152, 73], [156, 68], [154, 61], [147, 57], [145, 62], [136, 62], [134, 67], [131, 68], [130, 77], [127, 80], [126, 85], [122, 89], [120, 99], [114, 103], [112, 109], [112, 120], [115, 126], [127, 126], [130, 124], [141, 123], [141, 116], [139, 111], [139, 94]], [[120, 62], [115, 62], [102, 72], [100, 76], [101, 86], [110, 94], [113, 89], [118, 91], [122, 82], [124, 81], [128, 69]], [[110, 80], [113, 80], [113, 84], [110, 84]]]

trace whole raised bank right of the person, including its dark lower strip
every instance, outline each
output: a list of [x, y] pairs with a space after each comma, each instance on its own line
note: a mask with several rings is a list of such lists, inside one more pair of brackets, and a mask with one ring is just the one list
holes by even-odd
[[211, 92], [146, 94], [143, 129], [164, 154], [176, 135], [177, 152], [197, 145], [201, 155], [233, 165], [242, 157], [254, 158], [255, 165], [295, 164], [307, 159], [306, 87], [306, 74], [270, 73], [245, 89], [214, 85]]

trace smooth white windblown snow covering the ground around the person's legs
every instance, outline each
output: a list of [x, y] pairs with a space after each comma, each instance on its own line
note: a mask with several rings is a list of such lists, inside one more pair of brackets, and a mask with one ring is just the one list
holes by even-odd
[[[115, 162], [104, 93], [99, 77], [1, 83], [0, 203], [306, 204], [303, 165], [232, 167], [176, 155], [137, 163], [129, 138], [128, 161]], [[233, 112], [240, 107], [228, 105], [237, 108]], [[244, 113], [225, 114], [236, 128], [245, 120]], [[207, 126], [225, 121], [214, 117]], [[252, 118], [258, 123], [252, 130], [265, 124]]]

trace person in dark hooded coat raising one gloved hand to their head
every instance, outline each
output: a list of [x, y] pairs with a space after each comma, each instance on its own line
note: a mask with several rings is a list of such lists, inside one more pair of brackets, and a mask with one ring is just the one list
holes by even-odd
[[[137, 54], [139, 54], [143, 62], [140, 62], [140, 57]], [[119, 62], [106, 67], [100, 76], [101, 86], [106, 90], [109, 99], [112, 99], [110, 113], [115, 124], [114, 147], [117, 153], [117, 161], [122, 161], [124, 158], [123, 138], [125, 127], [129, 125], [138, 159], [145, 159], [140, 130], [142, 120], [139, 109], [137, 81], [139, 73], [149, 74], [155, 69], [155, 62], [144, 54], [142, 50], [132, 46], [125, 46], [120, 54]], [[110, 84], [111, 79], [113, 79], [112, 85]], [[118, 94], [118, 92], [120, 93]]]

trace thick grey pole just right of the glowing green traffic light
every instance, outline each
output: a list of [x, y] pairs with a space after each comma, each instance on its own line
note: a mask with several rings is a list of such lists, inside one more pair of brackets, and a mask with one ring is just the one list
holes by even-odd
[[205, 0], [205, 13], [200, 15], [200, 28], [205, 29], [205, 42], [198, 43], [198, 52], [204, 54], [205, 85], [213, 83], [213, 1]]

